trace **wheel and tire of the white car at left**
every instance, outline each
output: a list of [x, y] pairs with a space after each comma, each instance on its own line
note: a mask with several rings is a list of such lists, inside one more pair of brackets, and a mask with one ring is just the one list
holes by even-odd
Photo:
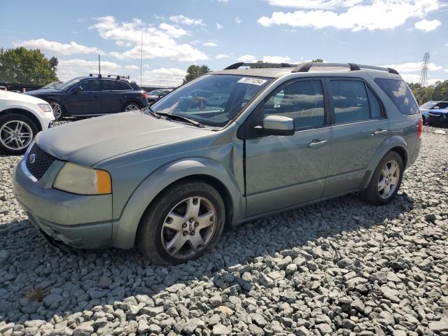
[[0, 116], [0, 151], [13, 155], [23, 154], [38, 132], [36, 123], [27, 116], [19, 113]]

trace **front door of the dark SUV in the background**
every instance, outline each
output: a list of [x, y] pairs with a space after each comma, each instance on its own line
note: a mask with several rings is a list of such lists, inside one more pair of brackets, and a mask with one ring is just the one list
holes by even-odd
[[101, 113], [101, 80], [85, 80], [68, 94], [69, 114], [81, 116]]

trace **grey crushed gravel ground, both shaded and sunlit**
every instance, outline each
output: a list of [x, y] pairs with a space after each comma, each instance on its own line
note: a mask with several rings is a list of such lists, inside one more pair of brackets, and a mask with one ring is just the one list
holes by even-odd
[[448, 335], [448, 131], [425, 127], [398, 197], [355, 195], [228, 230], [186, 265], [63, 255], [0, 157], [0, 335]]

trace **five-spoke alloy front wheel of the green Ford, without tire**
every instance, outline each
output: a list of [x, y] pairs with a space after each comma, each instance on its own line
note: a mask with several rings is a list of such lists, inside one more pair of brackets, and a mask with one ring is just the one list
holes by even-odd
[[194, 196], [176, 204], [160, 231], [162, 246], [174, 258], [191, 258], [206, 248], [216, 230], [216, 210], [209, 200]]

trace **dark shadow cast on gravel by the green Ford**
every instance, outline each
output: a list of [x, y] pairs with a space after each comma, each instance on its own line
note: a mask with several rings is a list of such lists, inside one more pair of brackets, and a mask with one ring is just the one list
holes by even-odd
[[[381, 225], [412, 209], [414, 200], [402, 193], [382, 207], [346, 195], [225, 230], [213, 251], [176, 266], [153, 265], [136, 250], [71, 250], [63, 254], [28, 221], [6, 223], [0, 225], [0, 321], [50, 321], [55, 315], [68, 316], [130, 300], [134, 295], [168, 295], [161, 292], [177, 283], [206, 281], [230, 293], [247, 293], [265, 274], [258, 272], [260, 276], [250, 281], [235, 273], [228, 276], [239, 265], [260, 261], [257, 257], [275, 258], [283, 250], [314, 246], [316, 240], [342, 232]], [[249, 265], [248, 272], [251, 270]], [[233, 281], [229, 282], [229, 277]], [[178, 287], [181, 290], [183, 286]]]

